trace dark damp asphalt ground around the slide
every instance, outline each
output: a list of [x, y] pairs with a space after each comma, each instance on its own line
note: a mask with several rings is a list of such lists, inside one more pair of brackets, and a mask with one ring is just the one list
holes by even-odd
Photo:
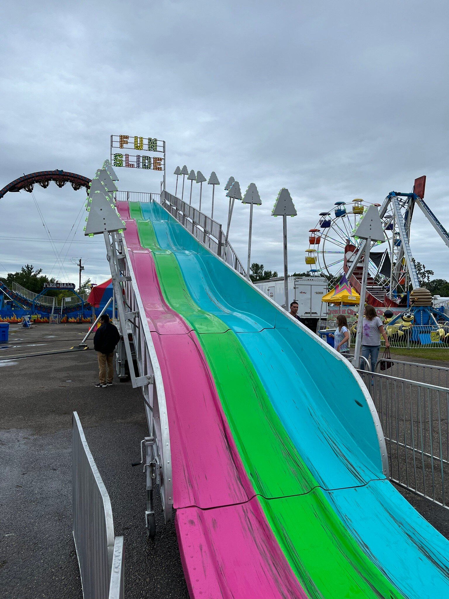
[[[126, 596], [187, 599], [174, 525], [163, 524], [157, 492], [156, 537], [145, 534], [145, 478], [141, 467], [131, 467], [147, 435], [141, 392], [130, 383], [94, 388], [92, 350], [20, 357], [68, 350], [86, 331], [87, 325], [11, 325], [9, 343], [0, 344], [1, 597], [82, 597], [71, 515], [76, 410], [111, 498], [115, 534], [125, 539]], [[448, 510], [398, 490], [449, 539]]]

